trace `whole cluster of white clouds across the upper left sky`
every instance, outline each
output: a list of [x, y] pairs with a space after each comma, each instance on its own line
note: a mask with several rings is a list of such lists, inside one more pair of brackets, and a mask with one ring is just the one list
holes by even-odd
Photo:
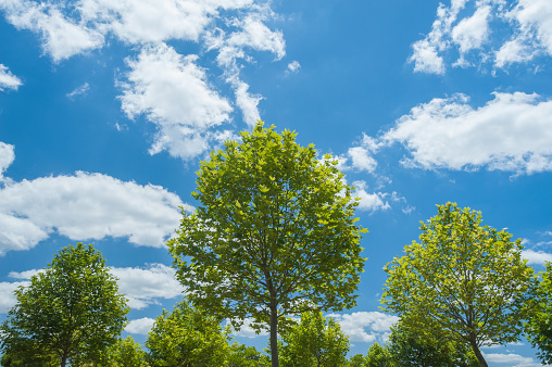
[[[286, 54], [281, 31], [266, 25], [277, 17], [268, 0], [10, 0], [0, 2], [0, 11], [18, 29], [39, 35], [54, 62], [101, 49], [111, 38], [140, 50], [126, 59], [129, 71], [118, 80], [122, 109], [129, 118], [143, 115], [155, 124], [151, 154], [167, 151], [184, 160], [229, 135], [221, 125], [231, 122], [234, 105], [248, 126], [261, 118], [263, 98], [249, 91], [240, 71], [254, 62], [252, 52], [271, 52], [276, 60]], [[202, 54], [216, 52], [234, 103], [209, 84], [199, 56], [179, 54], [166, 45], [171, 40], [198, 43]], [[0, 65], [0, 89], [18, 85]], [[67, 97], [84, 92], [76, 89]]]

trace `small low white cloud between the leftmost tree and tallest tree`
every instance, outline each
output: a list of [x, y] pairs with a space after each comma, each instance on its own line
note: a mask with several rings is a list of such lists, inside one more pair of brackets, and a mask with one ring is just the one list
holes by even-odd
[[175, 270], [163, 264], [151, 264], [148, 268], [113, 267], [110, 271], [118, 278], [118, 292], [126, 295], [131, 308], [159, 304], [159, 299], [174, 299], [185, 290], [176, 280]]

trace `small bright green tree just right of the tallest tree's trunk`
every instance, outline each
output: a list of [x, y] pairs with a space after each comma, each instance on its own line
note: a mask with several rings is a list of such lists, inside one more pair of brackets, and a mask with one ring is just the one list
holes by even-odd
[[279, 346], [283, 367], [344, 366], [349, 338], [339, 324], [322, 312], [303, 313], [301, 322], [281, 333]]

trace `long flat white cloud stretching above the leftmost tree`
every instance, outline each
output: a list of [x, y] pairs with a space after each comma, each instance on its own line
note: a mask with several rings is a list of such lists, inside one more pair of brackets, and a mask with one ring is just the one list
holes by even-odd
[[138, 245], [162, 246], [178, 226], [179, 205], [160, 186], [101, 174], [10, 182], [0, 189], [0, 253], [30, 249], [54, 230], [78, 241], [127, 237]]

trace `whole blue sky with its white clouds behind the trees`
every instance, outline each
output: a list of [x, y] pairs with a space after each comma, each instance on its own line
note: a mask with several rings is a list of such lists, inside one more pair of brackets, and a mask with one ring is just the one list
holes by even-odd
[[[368, 257], [339, 313], [365, 353], [382, 266], [436, 204], [552, 261], [550, 0], [0, 0], [0, 319], [57, 251], [102, 251], [142, 342], [181, 289], [164, 240], [199, 162], [258, 118], [339, 157]], [[266, 346], [266, 337], [240, 342]], [[539, 365], [518, 344], [495, 366]]]

